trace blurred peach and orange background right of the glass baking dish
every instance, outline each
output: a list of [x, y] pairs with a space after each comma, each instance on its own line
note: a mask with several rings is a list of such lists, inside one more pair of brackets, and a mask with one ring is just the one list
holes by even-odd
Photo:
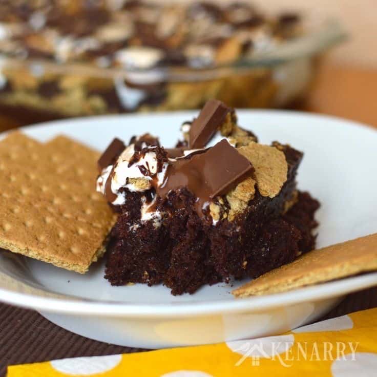
[[[229, 1], [217, 0], [217, 3]], [[299, 110], [341, 116], [377, 128], [376, 0], [253, 0], [250, 3], [272, 13], [295, 10], [341, 20], [349, 39], [328, 53], [313, 91]]]

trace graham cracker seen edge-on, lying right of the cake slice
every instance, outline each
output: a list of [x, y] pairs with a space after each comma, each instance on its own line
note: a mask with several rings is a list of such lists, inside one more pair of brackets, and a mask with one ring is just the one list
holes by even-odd
[[235, 289], [236, 297], [269, 295], [377, 270], [377, 233], [304, 254]]

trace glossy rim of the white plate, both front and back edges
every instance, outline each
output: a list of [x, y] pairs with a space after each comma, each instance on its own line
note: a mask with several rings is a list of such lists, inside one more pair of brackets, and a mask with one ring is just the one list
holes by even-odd
[[[238, 114], [257, 113], [266, 114], [274, 113], [276, 115], [300, 116], [309, 118], [320, 118], [323, 121], [339, 122], [350, 127], [362, 128], [364, 131], [375, 134], [375, 130], [367, 124], [355, 122], [352, 120], [342, 119], [335, 116], [323, 114], [310, 114], [300, 111], [290, 110], [237, 110]], [[154, 113], [153, 116], [165, 116], [167, 114], [174, 115], [192, 115], [193, 111], [176, 111]], [[61, 124], [67, 122], [90, 122], [96, 119], [104, 120], [114, 117], [129, 116], [148, 117], [148, 114], [113, 114], [101, 115], [93, 117], [79, 117], [74, 119], [61, 119], [44, 123], [37, 123], [27, 127], [22, 127], [21, 131], [31, 131], [39, 128], [51, 128], [51, 124]], [[7, 132], [0, 134], [0, 138], [4, 137]], [[226, 299], [220, 301], [191, 301], [177, 302], [171, 305], [166, 304], [135, 304], [127, 302], [106, 302], [95, 301], [90, 299], [55, 299], [44, 298], [35, 295], [22, 294], [0, 288], [0, 301], [12, 305], [25, 308], [32, 308], [40, 311], [59, 312], [67, 314], [82, 314], [88, 316], [114, 316], [114, 317], [186, 317], [186, 316], [204, 316], [213, 315], [215, 313], [233, 313], [240, 311], [260, 311], [275, 308], [283, 305], [294, 305], [300, 302], [313, 300], [324, 300], [331, 297], [339, 297], [351, 292], [377, 285], [377, 272], [368, 273], [361, 276], [344, 278], [336, 281], [326, 282], [315, 286], [303, 287], [300, 289], [282, 292], [280, 294], [255, 296], [244, 299]]]

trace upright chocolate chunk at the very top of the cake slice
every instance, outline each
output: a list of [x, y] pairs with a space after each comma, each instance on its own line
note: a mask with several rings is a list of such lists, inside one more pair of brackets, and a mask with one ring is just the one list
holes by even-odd
[[207, 101], [191, 125], [190, 149], [204, 148], [224, 122], [226, 114], [231, 111], [231, 108], [217, 99]]

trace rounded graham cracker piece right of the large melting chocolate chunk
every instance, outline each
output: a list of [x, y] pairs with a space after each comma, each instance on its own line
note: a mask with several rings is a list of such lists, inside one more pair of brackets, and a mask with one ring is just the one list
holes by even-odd
[[252, 163], [259, 193], [270, 198], [277, 196], [287, 180], [288, 164], [284, 153], [274, 146], [256, 142], [237, 150]]

